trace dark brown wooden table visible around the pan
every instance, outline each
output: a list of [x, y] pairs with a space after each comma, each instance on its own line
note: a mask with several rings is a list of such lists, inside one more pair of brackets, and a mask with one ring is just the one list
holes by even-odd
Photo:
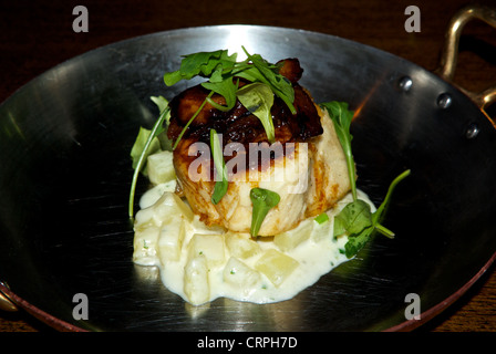
[[[469, 1], [6, 1], [0, 2], [0, 101], [44, 71], [116, 41], [172, 29], [215, 24], [298, 28], [350, 39], [426, 70], [438, 66], [446, 25]], [[496, 1], [478, 1], [493, 6]], [[421, 32], [407, 33], [407, 6], [421, 10]], [[73, 9], [89, 11], [89, 32], [76, 33]], [[469, 22], [461, 41], [455, 83], [471, 91], [496, 84], [496, 29]], [[496, 154], [496, 152], [495, 152]], [[1, 280], [1, 279], [0, 279]], [[0, 331], [51, 331], [23, 312], [0, 312]], [[420, 331], [496, 331], [496, 273]]]

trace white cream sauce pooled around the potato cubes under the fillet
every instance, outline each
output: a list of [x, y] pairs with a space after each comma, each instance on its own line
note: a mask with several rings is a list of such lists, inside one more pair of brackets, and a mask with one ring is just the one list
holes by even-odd
[[[149, 189], [140, 200], [140, 206], [142, 210], [144, 210], [143, 212], [151, 212], [161, 197], [165, 192], [174, 192], [175, 187], [175, 181], [172, 181]], [[373, 204], [364, 192], [359, 190], [359, 197], [371, 205], [372, 211], [375, 210]], [[276, 244], [277, 242], [272, 241], [273, 239], [260, 238], [256, 241], [259, 247], [257, 253], [247, 258], [235, 257], [235, 263], [232, 263], [232, 261], [228, 263], [234, 254], [231, 254], [228, 247], [224, 247], [223, 261], [220, 263], [216, 262], [208, 264], [208, 289], [200, 290], [204, 291], [204, 295], [206, 295], [205, 301], [200, 302], [210, 302], [221, 296], [254, 303], [279, 302], [289, 300], [306, 288], [314, 284], [323, 274], [329, 273], [332, 269], [349, 260], [342, 251], [348, 238], [345, 236], [334, 238], [332, 236], [332, 229], [333, 217], [351, 200], [352, 197], [351, 194], [349, 194], [340, 200], [333, 209], [328, 210], [327, 214], [329, 220], [323, 223], [318, 223], [314, 221], [314, 218], [303, 220], [293, 232], [296, 232], [296, 235], [307, 232], [308, 237], [292, 249], [281, 250]], [[142, 210], [140, 212], [142, 212]], [[155, 218], [157, 216], [155, 216]], [[161, 226], [149, 223], [145, 227], [148, 228], [146, 231], [149, 231], [149, 235], [155, 235], [155, 239], [154, 237], [151, 237], [149, 239], [138, 239], [142, 236], [138, 236], [136, 232], [133, 256], [134, 262], [142, 266], [156, 266], [161, 271], [162, 282], [169, 291], [178, 294], [187, 302], [200, 304], [195, 303], [197, 300], [189, 299], [185, 292], [185, 268], [190, 258], [188, 244], [192, 238], [198, 233], [221, 235], [224, 238], [228, 237], [228, 233], [224, 232], [221, 229], [208, 228], [205, 223], [199, 221], [197, 216], [194, 216], [190, 221], [185, 219], [180, 256], [178, 260], [173, 261], [164, 258], [161, 259], [159, 257]], [[283, 281], [280, 284], [275, 284], [262, 271], [260, 271], [259, 268], [257, 268], [261, 257], [269, 250], [277, 250], [278, 252], [289, 256], [297, 262], [297, 267], [289, 275], [283, 278]], [[235, 278], [237, 277], [238, 269], [232, 264], [239, 266], [239, 261], [242, 262], [241, 266], [248, 267], [247, 269], [251, 277], [240, 278], [239, 280]], [[231, 267], [231, 269], [227, 269], [227, 267]], [[241, 277], [244, 274], [246, 275], [246, 272], [240, 272], [240, 274]], [[229, 278], [229, 280], [227, 280], [227, 278]], [[249, 284], [247, 280], [249, 280]]]

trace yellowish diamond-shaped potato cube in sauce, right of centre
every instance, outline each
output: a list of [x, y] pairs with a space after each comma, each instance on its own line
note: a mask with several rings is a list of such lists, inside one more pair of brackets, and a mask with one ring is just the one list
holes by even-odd
[[270, 249], [260, 257], [255, 264], [255, 269], [264, 273], [276, 287], [279, 287], [298, 266], [296, 259]]

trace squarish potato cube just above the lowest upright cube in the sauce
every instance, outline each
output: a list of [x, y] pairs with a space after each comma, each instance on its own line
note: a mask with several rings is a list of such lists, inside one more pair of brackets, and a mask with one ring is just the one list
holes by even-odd
[[188, 258], [205, 256], [209, 267], [225, 261], [224, 236], [195, 233], [188, 243]]

